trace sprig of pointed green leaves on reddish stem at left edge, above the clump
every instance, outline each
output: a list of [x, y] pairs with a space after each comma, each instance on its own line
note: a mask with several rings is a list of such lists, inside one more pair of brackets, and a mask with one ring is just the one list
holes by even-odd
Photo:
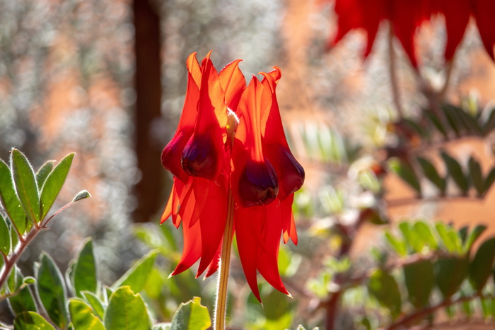
[[[59, 194], [69, 172], [74, 153], [67, 155], [56, 167], [54, 161], [47, 161], [36, 172], [28, 159], [21, 151], [11, 150], [10, 167], [0, 160], [0, 201], [4, 215], [0, 213], [0, 252], [3, 254], [0, 263], [0, 293], [6, 280], [11, 278], [12, 269], [15, 269], [15, 261], [23, 253], [24, 249], [34, 239], [38, 232], [47, 229], [47, 223], [53, 216], [46, 218], [49, 208]], [[89, 197], [85, 191], [78, 194], [74, 201]], [[64, 206], [71, 206], [74, 201]], [[63, 208], [62, 208], [63, 209]], [[54, 216], [57, 215], [60, 209]], [[50, 261], [42, 259], [42, 276], [50, 273]], [[48, 268], [46, 268], [48, 267]], [[15, 273], [15, 271], [14, 271]], [[45, 283], [37, 283], [44, 285]], [[23, 291], [21, 291], [23, 292]], [[12, 293], [12, 292], [11, 292]], [[43, 295], [43, 293], [41, 293]], [[4, 296], [0, 295], [0, 300]], [[46, 297], [43, 296], [45, 299]], [[11, 297], [12, 299], [12, 297]], [[64, 323], [64, 316], [58, 321]]]

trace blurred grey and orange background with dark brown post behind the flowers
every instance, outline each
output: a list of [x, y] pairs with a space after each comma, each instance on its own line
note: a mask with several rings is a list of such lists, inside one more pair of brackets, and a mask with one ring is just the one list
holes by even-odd
[[[393, 124], [397, 113], [388, 73], [388, 32], [380, 26], [367, 59], [362, 57], [365, 39], [359, 30], [330, 47], [337, 28], [333, 9], [333, 1], [310, 0], [0, 0], [0, 158], [8, 161], [15, 147], [37, 168], [74, 151], [74, 165], [57, 202], [66, 204], [81, 189], [93, 195], [57, 218], [23, 254], [23, 262], [31, 264], [45, 250], [65, 269], [92, 236], [100, 274], [109, 283], [150, 247], [168, 254], [160, 269], [170, 273], [182, 251], [182, 232], [168, 222], [157, 230], [171, 186], [160, 154], [182, 110], [185, 59], [197, 52], [201, 60], [210, 49], [218, 70], [243, 59], [240, 68], [247, 79], [275, 65], [281, 68], [281, 115], [293, 153], [306, 170], [294, 207], [301, 241], [298, 247], [281, 249], [284, 283], [295, 299], [288, 301], [263, 287], [268, 302], [262, 310], [234, 259], [233, 329], [236, 324], [249, 324], [249, 329], [320, 325], [324, 310], [318, 308], [318, 289], [308, 278], [318, 277], [331, 255], [349, 254], [363, 261], [362, 267], [370, 264], [369, 251], [380, 245], [383, 232], [375, 223], [421, 216], [458, 225], [482, 223], [493, 233], [493, 189], [484, 199], [424, 201], [403, 179], [380, 177], [379, 170], [368, 180], [368, 188], [380, 185], [375, 187], [379, 194], [363, 189], [362, 171], [380, 166], [399, 139]], [[441, 86], [442, 18], [421, 25], [416, 42], [421, 77], [433, 88]], [[400, 102], [406, 116], [418, 117], [429, 99], [398, 43], [395, 52]], [[468, 26], [454, 68], [447, 100], [474, 104], [477, 110], [494, 106], [495, 64], [474, 24]], [[423, 154], [438, 158], [442, 148], [466, 161], [475, 155], [484, 170], [493, 166], [490, 136], [443, 142]], [[433, 190], [426, 187], [427, 196], [428, 191]], [[371, 210], [375, 222], [363, 221], [363, 210]], [[356, 223], [359, 230], [350, 226]], [[336, 234], [346, 228], [355, 232]], [[343, 243], [342, 237], [353, 244]], [[175, 284], [165, 284], [168, 273], [160, 269], [153, 273], [153, 283], [168, 285], [169, 291], [147, 292], [157, 300], [167, 296], [156, 307], [161, 311], [156, 312], [158, 319], [170, 317], [178, 303], [192, 295], [212, 299], [211, 281], [195, 281], [187, 272], [168, 280]], [[269, 301], [276, 302], [278, 310], [268, 313], [281, 322], [272, 328], [266, 319], [260, 325]], [[211, 311], [211, 301], [206, 303]], [[246, 306], [247, 314], [242, 312]], [[288, 310], [290, 315], [280, 321]]]

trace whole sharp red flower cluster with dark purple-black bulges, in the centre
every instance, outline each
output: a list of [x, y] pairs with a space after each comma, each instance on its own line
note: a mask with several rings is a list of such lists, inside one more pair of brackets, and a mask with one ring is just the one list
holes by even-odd
[[[209, 55], [201, 66], [195, 54], [187, 59], [182, 116], [162, 153], [174, 184], [161, 222], [171, 216], [177, 228], [182, 222], [184, 233], [184, 252], [172, 275], [198, 259], [197, 276], [218, 269], [232, 189], [240, 261], [253, 293], [260, 300], [260, 271], [274, 288], [289, 294], [277, 259], [281, 237], [297, 244], [291, 206], [304, 170], [293, 158], [282, 127], [275, 94], [280, 70], [262, 73], [261, 82], [253, 76], [246, 88], [240, 60], [217, 73]], [[228, 127], [229, 112], [238, 117], [235, 136]]]

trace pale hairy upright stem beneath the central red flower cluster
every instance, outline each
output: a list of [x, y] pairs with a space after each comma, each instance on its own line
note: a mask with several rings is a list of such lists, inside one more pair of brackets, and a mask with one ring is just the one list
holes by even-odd
[[228, 268], [231, 264], [232, 231], [234, 225], [235, 203], [231, 189], [228, 189], [227, 220], [223, 232], [220, 257], [219, 282], [216, 287], [214, 329], [225, 329], [227, 311]]

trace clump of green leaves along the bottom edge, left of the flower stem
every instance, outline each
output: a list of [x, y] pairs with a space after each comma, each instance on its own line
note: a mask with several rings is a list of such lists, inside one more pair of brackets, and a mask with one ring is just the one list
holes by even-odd
[[[170, 324], [151, 326], [150, 315], [153, 313], [139, 291], [148, 285], [148, 275], [153, 270], [156, 257], [157, 252], [146, 254], [110, 289], [102, 287], [98, 281], [92, 240], [86, 240], [76, 259], [71, 261], [72, 267], [66, 276], [69, 285], [64, 283], [62, 273], [52, 258], [42, 254], [36, 280], [29, 276], [23, 278], [16, 268], [9, 276], [8, 302], [16, 317], [16, 329], [55, 329], [50, 323], [55, 324], [57, 329], [74, 330], [209, 328], [210, 315], [199, 298], [182, 304]], [[88, 277], [86, 281], [81, 278], [85, 274]], [[36, 297], [30, 290], [33, 283]], [[74, 296], [67, 297], [70, 293], [67, 286], [74, 288]], [[42, 306], [45, 313], [37, 314], [36, 305]], [[44, 319], [41, 314], [46, 314], [50, 320]]]

